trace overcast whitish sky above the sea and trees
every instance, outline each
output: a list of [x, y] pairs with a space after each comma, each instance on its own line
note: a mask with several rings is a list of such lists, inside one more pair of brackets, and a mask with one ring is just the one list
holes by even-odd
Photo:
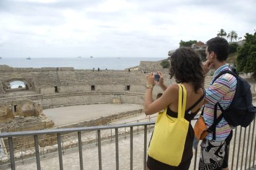
[[167, 57], [223, 28], [256, 30], [255, 0], [0, 0], [1, 57]]

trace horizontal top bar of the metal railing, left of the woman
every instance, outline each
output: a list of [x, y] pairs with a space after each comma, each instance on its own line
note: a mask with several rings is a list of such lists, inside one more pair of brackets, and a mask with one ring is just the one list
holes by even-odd
[[111, 125], [105, 125], [105, 126], [75, 127], [75, 128], [61, 128], [61, 129], [45, 129], [40, 131], [2, 132], [0, 133], [0, 138], [17, 137], [17, 136], [34, 136], [34, 135], [41, 135], [41, 134], [70, 133], [70, 132], [77, 132], [77, 131], [95, 131], [95, 130], [102, 130], [102, 129], [116, 129], [121, 127], [145, 126], [150, 124], [155, 124], [155, 122], [147, 121], [142, 123], [111, 124]]

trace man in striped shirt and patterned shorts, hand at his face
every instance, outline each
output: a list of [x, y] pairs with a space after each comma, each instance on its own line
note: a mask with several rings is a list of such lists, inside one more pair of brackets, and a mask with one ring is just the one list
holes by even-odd
[[[221, 71], [230, 70], [228, 64], [226, 64], [229, 54], [229, 44], [226, 39], [216, 37], [207, 41], [205, 54], [207, 55], [207, 61], [203, 63], [205, 74], [208, 73], [210, 68], [214, 68], [214, 79]], [[217, 102], [224, 110], [229, 107], [236, 92], [237, 84], [236, 78], [228, 73], [220, 76], [214, 83], [212, 81], [206, 90], [205, 108], [203, 110], [203, 119], [207, 127], [213, 124]], [[221, 115], [219, 107], [217, 107], [216, 115], [216, 118]], [[228, 169], [228, 144], [231, 138], [232, 127], [223, 118], [217, 124], [215, 133], [209, 133], [202, 141], [198, 169]]]

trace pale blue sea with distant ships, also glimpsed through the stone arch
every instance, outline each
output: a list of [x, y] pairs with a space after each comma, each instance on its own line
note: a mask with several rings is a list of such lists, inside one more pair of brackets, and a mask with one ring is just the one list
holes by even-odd
[[[73, 58], [4, 58], [0, 59], [0, 65], [8, 65], [16, 68], [42, 68], [42, 67], [74, 67], [75, 69], [98, 70], [124, 70], [139, 66], [140, 61], [159, 61], [167, 59], [162, 57], [73, 57]], [[25, 87], [22, 81], [13, 81], [11, 88]]]

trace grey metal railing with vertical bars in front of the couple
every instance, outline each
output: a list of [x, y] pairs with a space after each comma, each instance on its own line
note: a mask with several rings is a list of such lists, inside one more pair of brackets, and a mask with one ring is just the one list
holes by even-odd
[[[77, 134], [78, 141], [78, 149], [79, 149], [79, 166], [80, 169], [83, 169], [83, 152], [82, 152], [82, 132], [96, 132], [96, 145], [98, 148], [98, 168], [103, 169], [103, 161], [102, 161], [102, 151], [101, 144], [104, 140], [102, 134], [104, 131], [111, 131], [111, 139], [112, 139], [112, 130], [114, 129], [114, 137], [115, 140], [115, 163], [116, 169], [119, 169], [119, 157], [123, 156], [119, 153], [119, 140], [125, 136], [125, 138], [130, 137], [130, 145], [129, 145], [129, 169], [134, 169], [134, 135], [143, 132], [143, 169], [146, 169], [146, 160], [147, 160], [147, 146], [148, 146], [148, 138], [150, 137], [151, 132], [149, 131], [150, 126], [153, 126], [154, 122], [143, 122], [143, 123], [130, 123], [130, 124], [116, 124], [109, 126], [94, 126], [94, 127], [77, 127], [77, 128], [68, 128], [68, 129], [46, 129], [41, 131], [23, 131], [23, 132], [6, 132], [1, 133], [0, 138], [7, 138], [9, 143], [9, 164], [11, 169], [15, 169], [15, 157], [14, 157], [14, 137], [24, 137], [24, 136], [33, 136], [34, 145], [35, 145], [35, 160], [36, 160], [36, 168], [41, 169], [40, 165], [40, 148], [38, 145], [38, 136], [44, 134], [56, 134], [57, 143], [58, 143], [58, 157], [59, 157], [59, 169], [64, 169], [62, 156], [63, 152], [63, 144], [61, 134], [67, 133], [75, 133]], [[135, 128], [134, 128], [135, 127]], [[137, 128], [136, 128], [137, 127]], [[120, 129], [124, 129], [124, 131], [120, 131]], [[231, 169], [254, 169], [255, 167], [255, 152], [256, 152], [256, 137], [255, 137], [255, 120], [250, 124], [249, 127], [236, 127], [233, 130], [233, 139], [231, 140], [231, 144], [229, 146], [229, 168]], [[109, 132], [110, 133], [110, 132]], [[126, 136], [126, 134], [129, 136]], [[119, 135], [120, 134], [120, 135]], [[128, 146], [127, 146], [128, 147]], [[127, 155], [128, 153], [126, 153]], [[194, 158], [190, 165], [190, 169], [197, 169], [198, 166], [198, 150], [194, 150]], [[114, 168], [113, 168], [114, 169]]]

